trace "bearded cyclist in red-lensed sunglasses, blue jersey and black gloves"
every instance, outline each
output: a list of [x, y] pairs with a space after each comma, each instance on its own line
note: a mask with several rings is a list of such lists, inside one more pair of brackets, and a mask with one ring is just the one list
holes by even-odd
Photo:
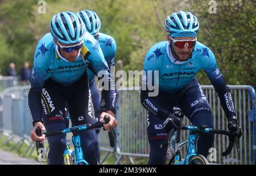
[[[196, 74], [204, 69], [221, 100], [228, 120], [228, 129], [241, 137], [242, 130], [236, 118], [232, 94], [218, 69], [213, 52], [197, 41], [199, 22], [191, 12], [174, 12], [167, 16], [165, 30], [168, 41], [153, 45], [144, 58], [144, 71], [156, 72], [159, 76], [159, 93], [150, 97], [147, 83], [150, 74], [144, 74], [141, 103], [148, 110], [147, 128], [150, 143], [148, 164], [164, 164], [167, 148], [160, 144], [172, 129], [180, 127], [180, 119], [172, 115], [174, 106], [179, 106], [194, 125], [208, 125], [213, 128], [213, 116]], [[142, 86], [142, 87], [143, 87]], [[151, 90], [152, 91], [152, 90]], [[202, 134], [198, 140], [198, 153], [207, 157], [214, 135]]]

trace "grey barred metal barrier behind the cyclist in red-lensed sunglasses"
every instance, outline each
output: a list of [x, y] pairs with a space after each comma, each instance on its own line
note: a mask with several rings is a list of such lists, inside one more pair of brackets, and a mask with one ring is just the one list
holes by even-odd
[[[227, 129], [226, 117], [222, 110], [220, 100], [213, 86], [201, 86], [212, 108], [214, 117], [214, 127]], [[255, 109], [256, 99], [255, 91], [251, 86], [233, 86], [232, 90], [234, 105], [237, 110], [237, 118], [243, 130], [243, 136], [240, 139], [241, 152], [237, 153], [235, 149], [228, 157], [222, 157], [221, 153], [227, 148], [228, 139], [225, 136], [216, 135], [214, 148], [217, 150], [216, 164], [256, 164], [256, 120]], [[127, 156], [131, 164], [131, 157], [148, 157], [150, 146], [147, 140], [147, 114], [141, 105], [140, 93], [137, 90], [119, 90], [118, 98], [118, 144], [115, 146], [117, 154], [116, 164], [120, 164], [122, 157]], [[183, 124], [189, 124], [187, 118], [183, 119]], [[188, 131], [183, 131], [181, 139], [188, 136]], [[106, 136], [101, 136], [100, 141], [105, 141]], [[106, 145], [107, 143], [104, 143]], [[102, 143], [100, 143], [102, 146]], [[182, 156], [185, 156], [185, 150], [181, 150]]]

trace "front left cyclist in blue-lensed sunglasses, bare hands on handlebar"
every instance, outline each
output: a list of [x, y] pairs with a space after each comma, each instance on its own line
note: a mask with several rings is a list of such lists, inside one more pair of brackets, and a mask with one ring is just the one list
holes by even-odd
[[[115, 83], [97, 41], [86, 28], [79, 15], [65, 11], [53, 16], [50, 23], [51, 33], [47, 33], [36, 46], [34, 65], [30, 75], [31, 89], [28, 93], [34, 128], [32, 140], [43, 141], [35, 133], [36, 127], [54, 131], [64, 129], [65, 104], [68, 102], [72, 125], [95, 123], [91, 94], [88, 82], [88, 68], [95, 73], [101, 71], [104, 80], [103, 90], [106, 112], [110, 116], [105, 125], [116, 127]], [[80, 133], [82, 149], [89, 164], [97, 164], [95, 130]], [[48, 137], [48, 164], [64, 164], [63, 153], [66, 145], [65, 135]]]

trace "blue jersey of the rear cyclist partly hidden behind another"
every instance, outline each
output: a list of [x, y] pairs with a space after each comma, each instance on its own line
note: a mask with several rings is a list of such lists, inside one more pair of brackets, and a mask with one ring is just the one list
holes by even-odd
[[[98, 44], [100, 44], [104, 58], [109, 66], [115, 65], [115, 53], [117, 52], [117, 44], [112, 36], [105, 33], [99, 33]], [[91, 82], [95, 75], [89, 70], [88, 72], [89, 82]]]

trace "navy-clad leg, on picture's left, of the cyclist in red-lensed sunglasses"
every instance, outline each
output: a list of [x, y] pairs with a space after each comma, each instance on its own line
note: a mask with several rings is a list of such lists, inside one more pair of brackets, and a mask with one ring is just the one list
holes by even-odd
[[[173, 105], [170, 102], [163, 103], [163, 98], [168, 97], [168, 95], [164, 95], [159, 93], [158, 97], [155, 97], [154, 99], [157, 102], [162, 102], [161, 105], [165, 110], [172, 112]], [[167, 147], [162, 149], [160, 148], [160, 145], [164, 143], [168, 133], [163, 129], [163, 120], [151, 112], [147, 113], [147, 133], [148, 142], [150, 144], [150, 157], [148, 164], [164, 164], [166, 160]]]

